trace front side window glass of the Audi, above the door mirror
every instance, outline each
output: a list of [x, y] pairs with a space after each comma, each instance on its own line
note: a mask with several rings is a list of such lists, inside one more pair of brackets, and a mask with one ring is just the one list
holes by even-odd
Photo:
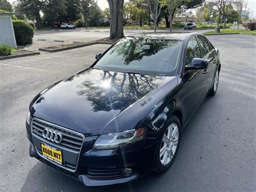
[[199, 45], [195, 36], [189, 39], [187, 50], [186, 50], [186, 65], [190, 65], [193, 58], [201, 58]]

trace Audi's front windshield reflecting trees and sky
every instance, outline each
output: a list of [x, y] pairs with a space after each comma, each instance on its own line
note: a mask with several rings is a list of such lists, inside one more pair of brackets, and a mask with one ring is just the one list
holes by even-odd
[[174, 76], [182, 41], [124, 38], [109, 49], [94, 68], [144, 75]]

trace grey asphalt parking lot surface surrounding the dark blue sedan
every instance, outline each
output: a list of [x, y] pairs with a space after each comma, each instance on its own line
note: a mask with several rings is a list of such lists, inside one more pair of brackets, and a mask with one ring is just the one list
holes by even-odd
[[29, 157], [25, 121], [36, 93], [88, 67], [109, 45], [0, 61], [0, 191], [256, 191], [256, 36], [208, 38], [221, 54], [218, 92], [182, 133], [170, 170], [97, 188]]

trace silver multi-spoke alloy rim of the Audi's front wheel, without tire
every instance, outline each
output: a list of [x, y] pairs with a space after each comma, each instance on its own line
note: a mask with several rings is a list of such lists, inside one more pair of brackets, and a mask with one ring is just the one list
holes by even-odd
[[160, 147], [160, 161], [164, 166], [172, 161], [177, 146], [179, 143], [179, 127], [177, 124], [172, 123], [164, 132], [161, 147]]

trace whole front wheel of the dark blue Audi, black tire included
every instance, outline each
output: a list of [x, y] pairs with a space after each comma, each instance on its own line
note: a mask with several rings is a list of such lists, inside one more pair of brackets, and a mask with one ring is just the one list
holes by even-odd
[[[175, 129], [176, 129], [176, 132], [173, 134]], [[180, 125], [179, 118], [177, 118], [177, 116], [175, 115], [171, 116], [170, 119], [167, 121], [166, 125], [164, 125], [163, 132], [161, 133], [160, 140], [156, 147], [156, 153], [155, 153], [156, 156], [155, 156], [154, 168], [153, 168], [154, 172], [157, 172], [157, 173], [166, 172], [166, 170], [168, 170], [172, 165], [176, 157], [177, 151], [179, 149], [180, 129], [181, 129], [181, 125]], [[171, 136], [172, 141], [170, 141], [171, 139], [169, 141], [166, 141], [166, 140], [164, 141], [165, 136], [167, 136], [168, 138], [168, 131], [170, 131], [170, 135], [173, 134], [173, 137]], [[169, 150], [168, 149], [166, 150], [166, 147], [167, 147], [166, 145], [168, 145], [167, 143], [169, 144]], [[164, 146], [165, 146], [165, 150], [164, 150]]]

